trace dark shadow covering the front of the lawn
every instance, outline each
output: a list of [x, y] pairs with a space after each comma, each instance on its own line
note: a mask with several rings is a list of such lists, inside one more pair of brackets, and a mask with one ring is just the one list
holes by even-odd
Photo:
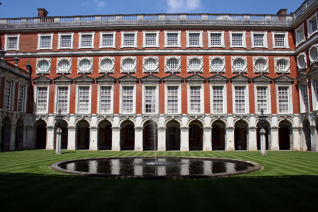
[[[0, 173], [1, 210], [315, 210], [318, 176], [122, 180]], [[14, 207], [13, 207], [14, 206]]]

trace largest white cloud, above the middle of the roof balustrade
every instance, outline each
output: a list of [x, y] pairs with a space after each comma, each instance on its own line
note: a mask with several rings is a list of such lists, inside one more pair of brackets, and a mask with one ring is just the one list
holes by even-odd
[[201, 6], [201, 0], [166, 0], [168, 13], [191, 12]]

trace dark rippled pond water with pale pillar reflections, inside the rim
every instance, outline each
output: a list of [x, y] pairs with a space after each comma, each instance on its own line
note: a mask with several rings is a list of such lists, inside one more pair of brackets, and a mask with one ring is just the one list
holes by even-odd
[[210, 175], [249, 169], [252, 165], [236, 161], [205, 158], [113, 158], [87, 159], [59, 164], [68, 171], [113, 175]]

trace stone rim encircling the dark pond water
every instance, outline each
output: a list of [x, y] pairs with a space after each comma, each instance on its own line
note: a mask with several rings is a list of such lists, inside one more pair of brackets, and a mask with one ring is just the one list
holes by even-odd
[[[242, 175], [247, 173], [252, 173], [258, 170], [263, 169], [264, 167], [258, 163], [240, 159], [227, 159], [227, 158], [210, 158], [210, 157], [189, 157], [189, 156], [157, 156], [157, 159], [202, 159], [202, 160], [210, 160], [210, 161], [222, 161], [222, 162], [230, 162], [236, 164], [244, 164], [250, 166], [245, 170], [233, 171], [233, 172], [223, 172], [223, 173], [213, 173], [213, 174], [189, 174], [189, 175], [125, 175], [125, 174], [105, 174], [105, 173], [89, 173], [89, 172], [81, 172], [81, 171], [71, 171], [64, 168], [59, 167], [61, 164], [79, 162], [79, 161], [88, 161], [88, 160], [102, 160], [102, 159], [150, 159], [153, 156], [122, 156], [122, 157], [102, 157], [102, 158], [82, 158], [82, 159], [71, 159], [71, 160], [63, 160], [56, 163], [53, 163], [48, 168], [57, 172], [81, 175], [81, 176], [91, 176], [91, 177], [108, 177], [108, 178], [117, 178], [117, 179], [170, 179], [170, 180], [182, 180], [182, 179], [206, 179], [206, 178], [223, 178], [230, 177], [236, 175]], [[155, 166], [155, 165], [154, 165]]]

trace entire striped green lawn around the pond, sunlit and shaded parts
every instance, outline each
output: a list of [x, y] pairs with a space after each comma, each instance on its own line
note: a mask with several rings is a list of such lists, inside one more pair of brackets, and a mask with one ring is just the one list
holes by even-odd
[[123, 180], [58, 173], [50, 164], [66, 159], [143, 156], [154, 152], [54, 150], [0, 152], [1, 211], [305, 211], [317, 210], [318, 153], [157, 152], [251, 160], [264, 169], [204, 180]]

